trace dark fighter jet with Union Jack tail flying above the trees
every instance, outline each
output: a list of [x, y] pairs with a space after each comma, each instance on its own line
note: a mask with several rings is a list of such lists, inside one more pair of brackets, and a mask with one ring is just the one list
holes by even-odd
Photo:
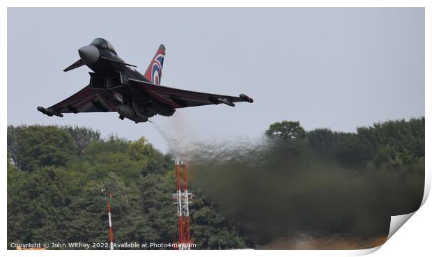
[[245, 94], [236, 97], [160, 86], [164, 45], [157, 49], [144, 75], [135, 69], [137, 66], [125, 63], [113, 45], [103, 38], [79, 48], [78, 54], [80, 59], [63, 71], [86, 65], [93, 71], [88, 72], [88, 86], [52, 107], [38, 107], [38, 111], [59, 117], [67, 113], [116, 111], [121, 120], [128, 118], [141, 123], [157, 114], [172, 116], [178, 108], [207, 104], [233, 107], [234, 102], [254, 102]]

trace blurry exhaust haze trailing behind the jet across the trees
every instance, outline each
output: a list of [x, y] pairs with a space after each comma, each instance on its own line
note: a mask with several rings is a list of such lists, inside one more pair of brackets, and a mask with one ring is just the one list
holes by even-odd
[[192, 186], [262, 248], [374, 247], [385, 242], [390, 215], [417, 210], [422, 201], [424, 160], [357, 167], [304, 141], [164, 136], [190, 167]]

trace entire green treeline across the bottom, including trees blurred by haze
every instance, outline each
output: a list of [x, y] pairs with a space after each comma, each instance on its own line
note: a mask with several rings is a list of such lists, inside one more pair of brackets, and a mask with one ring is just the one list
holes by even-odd
[[[310, 226], [328, 235], [385, 234], [389, 215], [421, 203], [424, 123], [390, 120], [345, 133], [282, 121], [270, 125], [263, 147], [224, 148], [224, 162], [197, 158], [190, 185], [196, 248], [255, 247]], [[40, 125], [10, 125], [7, 137], [8, 246], [108, 242], [101, 189], [114, 194], [115, 242], [178, 240], [173, 157], [144, 138]]]

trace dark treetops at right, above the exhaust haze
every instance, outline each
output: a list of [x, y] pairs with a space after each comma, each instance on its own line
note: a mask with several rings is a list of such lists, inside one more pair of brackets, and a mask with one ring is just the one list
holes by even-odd
[[299, 122], [273, 123], [269, 137], [307, 143], [315, 150], [349, 165], [402, 165], [419, 159], [424, 162], [424, 125], [422, 118], [389, 120], [369, 127], [357, 127], [356, 133], [334, 132], [327, 128], [304, 131]]

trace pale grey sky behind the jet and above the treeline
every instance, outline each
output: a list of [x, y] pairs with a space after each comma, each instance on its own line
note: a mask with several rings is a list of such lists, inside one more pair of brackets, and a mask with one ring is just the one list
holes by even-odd
[[[93, 38], [144, 72], [167, 47], [162, 85], [238, 95], [253, 104], [179, 109], [134, 124], [118, 114], [47, 117], [88, 84], [62, 70]], [[8, 8], [8, 124], [84, 125], [107, 136], [259, 137], [271, 123], [353, 132], [424, 116], [424, 8]]]

